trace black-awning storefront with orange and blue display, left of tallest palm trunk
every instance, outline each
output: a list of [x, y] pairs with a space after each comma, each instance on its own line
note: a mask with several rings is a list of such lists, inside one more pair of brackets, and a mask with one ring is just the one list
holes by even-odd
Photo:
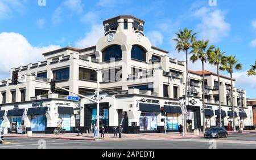
[[179, 130], [179, 116], [182, 114], [181, 107], [178, 106], [164, 106], [166, 112], [167, 131]]

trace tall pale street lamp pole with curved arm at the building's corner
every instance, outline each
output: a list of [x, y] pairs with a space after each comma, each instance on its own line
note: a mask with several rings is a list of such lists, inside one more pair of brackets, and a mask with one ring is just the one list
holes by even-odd
[[[73, 58], [73, 59], [77, 59], [77, 58]], [[82, 62], [86, 63], [90, 68], [92, 68], [94, 71], [97, 72], [97, 139], [100, 136], [100, 66], [98, 70], [95, 70], [92, 66], [90, 66], [90, 64], [88, 64], [86, 61], [81, 60]], [[99, 64], [100, 65], [100, 64]]]

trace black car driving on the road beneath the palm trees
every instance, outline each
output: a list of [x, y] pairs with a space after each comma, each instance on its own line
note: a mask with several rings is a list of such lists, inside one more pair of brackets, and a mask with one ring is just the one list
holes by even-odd
[[228, 137], [228, 131], [226, 131], [223, 127], [213, 127], [210, 128], [209, 131], [204, 133], [205, 138], [217, 138], [220, 139], [220, 137]]

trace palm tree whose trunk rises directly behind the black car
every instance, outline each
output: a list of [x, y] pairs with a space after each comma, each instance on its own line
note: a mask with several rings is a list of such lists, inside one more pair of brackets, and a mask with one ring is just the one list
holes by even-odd
[[208, 61], [209, 64], [213, 64], [217, 67], [217, 75], [218, 75], [218, 106], [219, 106], [219, 116], [220, 116], [220, 127], [221, 127], [221, 101], [220, 101], [220, 64], [224, 59], [224, 53], [221, 53], [220, 48], [215, 49], [214, 51], [208, 53]]

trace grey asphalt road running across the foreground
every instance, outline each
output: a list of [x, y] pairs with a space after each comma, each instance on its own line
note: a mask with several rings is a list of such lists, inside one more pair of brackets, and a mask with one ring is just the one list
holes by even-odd
[[174, 139], [129, 141], [77, 141], [6, 137], [0, 149], [256, 149], [256, 135], [232, 135], [227, 139]]

